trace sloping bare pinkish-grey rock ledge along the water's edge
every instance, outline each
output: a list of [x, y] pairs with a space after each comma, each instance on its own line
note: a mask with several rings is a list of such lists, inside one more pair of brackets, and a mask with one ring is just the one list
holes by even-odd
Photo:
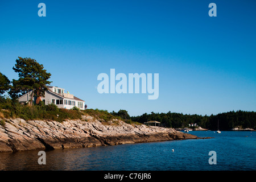
[[100, 122], [90, 115], [82, 119], [24, 121], [5, 119], [0, 126], [0, 152], [55, 150], [125, 143], [199, 139], [195, 135], [163, 127], [130, 125], [120, 120]]

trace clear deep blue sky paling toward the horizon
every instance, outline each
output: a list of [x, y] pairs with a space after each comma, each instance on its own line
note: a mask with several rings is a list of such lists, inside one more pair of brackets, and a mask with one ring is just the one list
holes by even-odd
[[[46, 4], [46, 17], [38, 4]], [[210, 17], [209, 3], [217, 5]], [[0, 72], [36, 59], [88, 108], [130, 115], [256, 110], [256, 1], [1, 1]], [[100, 73], [159, 73], [159, 98], [99, 94]]]

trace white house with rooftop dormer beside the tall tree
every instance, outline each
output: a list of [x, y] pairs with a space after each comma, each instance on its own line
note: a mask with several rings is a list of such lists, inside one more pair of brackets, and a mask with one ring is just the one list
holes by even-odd
[[[41, 100], [44, 104], [56, 104], [59, 108], [72, 109], [74, 106], [84, 110], [84, 102], [80, 98], [75, 97], [69, 92], [65, 93], [63, 88], [57, 86], [47, 86], [48, 90], [45, 92], [44, 97], [34, 97], [34, 103]], [[31, 91], [32, 92], [32, 91]], [[31, 92], [24, 94], [18, 98], [21, 103], [26, 103], [30, 100]]]

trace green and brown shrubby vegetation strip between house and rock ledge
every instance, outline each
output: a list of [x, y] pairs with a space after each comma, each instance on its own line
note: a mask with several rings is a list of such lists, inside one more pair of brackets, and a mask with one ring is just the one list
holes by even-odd
[[[44, 105], [21, 105], [17, 101], [5, 99], [0, 101], [0, 119], [2, 118], [22, 118], [26, 121], [34, 119], [43, 119], [63, 122], [67, 119], [82, 119], [82, 115], [91, 115], [98, 119], [104, 125], [119, 125], [118, 120], [129, 124], [140, 125], [141, 123], [133, 122], [131, 119], [123, 118], [122, 115], [113, 115], [107, 110], [86, 109], [79, 110], [77, 107], [72, 109], [60, 109], [54, 104]], [[2, 120], [1, 120], [2, 121]], [[1, 125], [4, 125], [2, 122]]]

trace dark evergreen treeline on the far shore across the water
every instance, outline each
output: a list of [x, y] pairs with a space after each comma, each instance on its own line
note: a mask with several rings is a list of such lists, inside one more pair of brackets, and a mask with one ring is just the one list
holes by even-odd
[[229, 111], [228, 113], [220, 113], [217, 115], [197, 115], [182, 113], [144, 113], [137, 117], [131, 117], [132, 121], [144, 123], [147, 121], [159, 121], [162, 126], [172, 128], [188, 127], [191, 123], [197, 123], [204, 129], [217, 130], [218, 123], [220, 130], [231, 130], [234, 127], [256, 129], [256, 113], [254, 111]]

